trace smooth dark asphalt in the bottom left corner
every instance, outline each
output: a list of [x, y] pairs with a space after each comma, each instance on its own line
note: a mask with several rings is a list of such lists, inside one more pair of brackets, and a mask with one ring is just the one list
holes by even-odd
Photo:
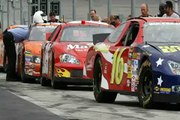
[[0, 120], [65, 120], [0, 88]]

